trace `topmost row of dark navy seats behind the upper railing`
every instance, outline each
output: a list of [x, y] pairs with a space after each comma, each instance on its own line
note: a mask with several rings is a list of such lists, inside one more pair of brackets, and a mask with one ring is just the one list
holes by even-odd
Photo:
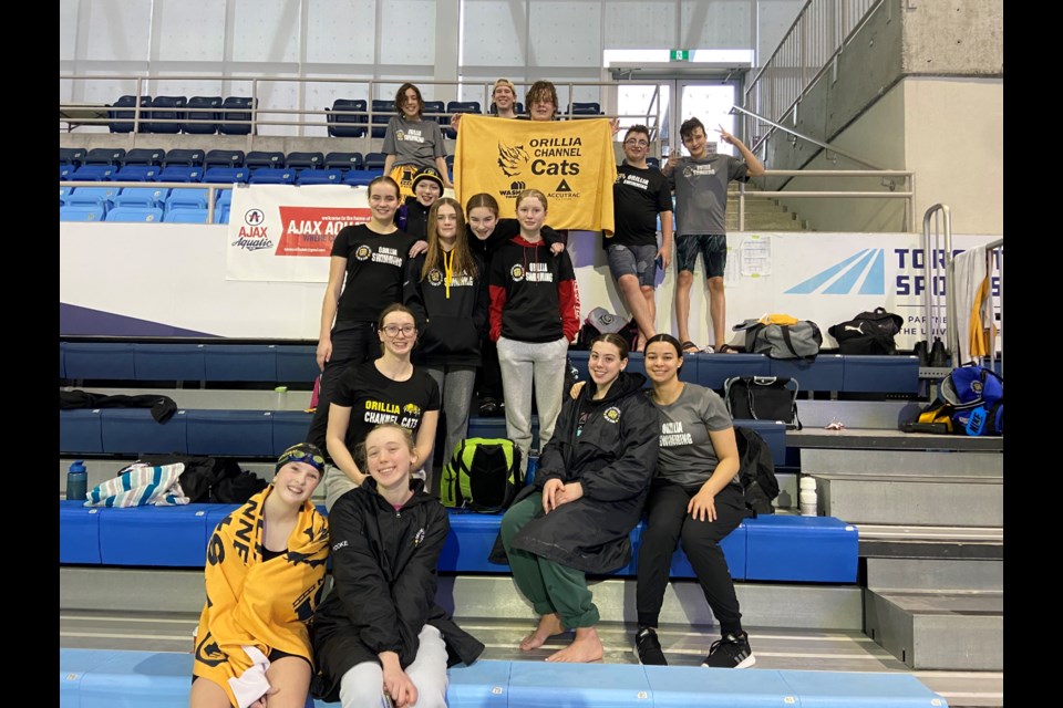
[[[251, 132], [251, 117], [258, 108], [250, 96], [120, 96], [107, 106], [107, 127], [112, 133], [186, 133], [193, 135], [248, 135]], [[372, 101], [372, 119], [369, 116], [370, 103], [360, 98], [337, 98], [331, 107], [326, 107], [326, 122], [332, 137], [362, 137], [371, 128], [372, 137], [384, 137], [384, 129], [391, 116], [395, 115], [395, 104], [390, 100]], [[517, 113], [524, 112], [522, 104], [516, 105]], [[438, 121], [440, 125], [451, 124], [451, 114], [479, 114], [478, 101], [425, 101], [426, 118]], [[601, 115], [598, 103], [572, 102], [566, 115]], [[446, 137], [453, 139], [457, 133], [445, 128]]]

